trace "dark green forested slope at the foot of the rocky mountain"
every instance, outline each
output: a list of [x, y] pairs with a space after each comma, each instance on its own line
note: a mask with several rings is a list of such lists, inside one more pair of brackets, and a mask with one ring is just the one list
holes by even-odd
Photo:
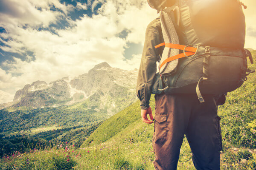
[[92, 125], [109, 117], [104, 110], [87, 109], [86, 106], [73, 104], [56, 108], [37, 108], [8, 111], [0, 110], [0, 133], [32, 133], [42, 127], [72, 127]]

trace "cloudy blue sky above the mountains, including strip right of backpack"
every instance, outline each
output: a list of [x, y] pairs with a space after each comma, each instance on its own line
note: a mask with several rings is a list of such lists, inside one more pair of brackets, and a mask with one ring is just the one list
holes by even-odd
[[[255, 49], [256, 1], [243, 3], [245, 47]], [[26, 84], [76, 77], [100, 62], [139, 68], [157, 16], [146, 0], [0, 0], [0, 103]]]

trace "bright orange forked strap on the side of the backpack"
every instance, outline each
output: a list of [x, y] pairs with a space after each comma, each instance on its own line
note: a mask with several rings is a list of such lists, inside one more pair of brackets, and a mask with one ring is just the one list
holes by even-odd
[[[168, 48], [176, 48], [176, 49], [179, 49], [179, 50], [184, 50], [184, 48], [186, 47], [186, 45], [180, 45], [180, 44], [172, 44], [172, 43], [161, 43], [161, 44], [158, 44], [155, 46], [155, 48], [158, 48], [160, 46], [165, 46], [165, 47], [168, 47]], [[186, 47], [185, 48], [185, 51], [188, 51], [188, 52], [185, 52], [185, 54], [187, 56], [191, 56], [193, 54], [195, 54], [197, 48], [194, 48], [194, 47]], [[163, 65], [165, 65], [167, 62], [171, 62], [175, 59], [179, 59], [179, 58], [182, 58], [182, 57], [186, 57], [184, 53], [180, 53], [180, 54], [177, 54], [175, 56], [172, 56], [172, 57], [168, 57], [167, 59], [165, 59], [162, 64], [160, 65], [160, 69], [161, 67], [163, 67]]]

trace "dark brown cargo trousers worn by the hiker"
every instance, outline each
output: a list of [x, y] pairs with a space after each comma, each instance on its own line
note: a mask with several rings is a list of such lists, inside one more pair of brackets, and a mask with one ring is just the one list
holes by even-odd
[[184, 134], [197, 170], [220, 170], [222, 138], [213, 96], [157, 94], [152, 138], [156, 170], [176, 170]]

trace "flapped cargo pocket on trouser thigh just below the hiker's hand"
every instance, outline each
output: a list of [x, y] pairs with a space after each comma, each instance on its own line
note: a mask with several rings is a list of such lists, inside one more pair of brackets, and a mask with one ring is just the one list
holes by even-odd
[[166, 139], [166, 115], [154, 116], [154, 135], [156, 139]]

